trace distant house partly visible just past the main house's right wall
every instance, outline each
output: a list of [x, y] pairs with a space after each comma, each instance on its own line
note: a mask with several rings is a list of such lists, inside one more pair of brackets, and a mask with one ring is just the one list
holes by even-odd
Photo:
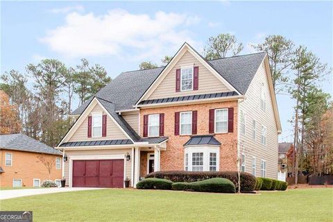
[[291, 173], [293, 143], [279, 143], [279, 171], [282, 173]]

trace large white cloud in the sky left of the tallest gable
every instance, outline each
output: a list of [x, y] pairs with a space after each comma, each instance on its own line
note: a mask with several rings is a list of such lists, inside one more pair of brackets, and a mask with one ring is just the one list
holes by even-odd
[[185, 41], [196, 45], [194, 34], [187, 28], [198, 22], [199, 17], [162, 11], [156, 12], [155, 17], [121, 9], [101, 16], [71, 12], [64, 25], [40, 40], [65, 56], [128, 56], [126, 51], [130, 51], [130, 56], [138, 60], [154, 59], [173, 53]]

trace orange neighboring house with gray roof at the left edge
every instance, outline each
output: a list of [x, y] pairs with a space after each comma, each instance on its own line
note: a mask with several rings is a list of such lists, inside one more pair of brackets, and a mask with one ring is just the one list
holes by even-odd
[[55, 148], [21, 133], [0, 135], [0, 187], [40, 187], [43, 180], [60, 185], [61, 169], [62, 153]]

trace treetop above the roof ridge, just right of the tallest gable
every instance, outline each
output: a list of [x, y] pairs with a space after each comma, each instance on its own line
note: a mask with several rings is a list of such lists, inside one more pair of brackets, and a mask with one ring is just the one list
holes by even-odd
[[230, 56], [236, 56], [243, 49], [243, 44], [237, 43], [237, 39], [234, 35], [222, 33], [216, 37], [212, 36], [209, 38], [204, 53], [207, 60], [214, 60], [217, 58], [225, 58], [228, 54], [230, 54]]

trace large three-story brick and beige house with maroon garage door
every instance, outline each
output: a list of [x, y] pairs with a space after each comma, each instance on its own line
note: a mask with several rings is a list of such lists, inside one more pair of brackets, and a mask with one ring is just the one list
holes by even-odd
[[56, 147], [69, 187], [237, 171], [238, 156], [242, 171], [277, 178], [281, 124], [266, 53], [207, 61], [185, 43], [166, 67], [123, 72], [72, 114]]

